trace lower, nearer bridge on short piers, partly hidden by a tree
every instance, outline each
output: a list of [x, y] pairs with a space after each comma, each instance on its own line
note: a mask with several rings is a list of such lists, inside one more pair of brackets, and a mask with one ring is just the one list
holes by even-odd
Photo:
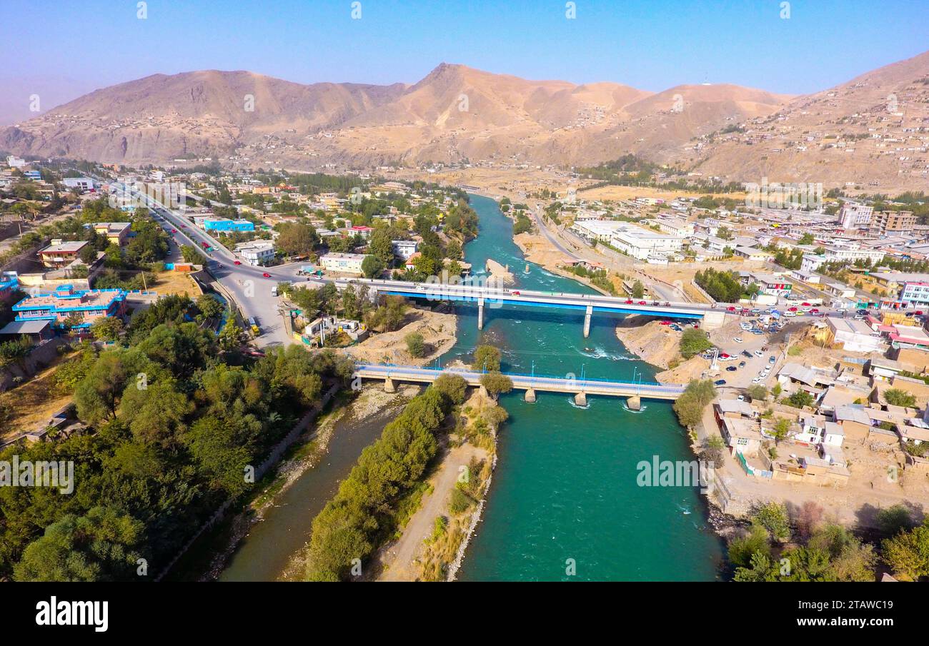
[[[480, 370], [464, 368], [416, 368], [415, 366], [356, 364], [352, 376], [360, 379], [384, 380], [385, 390], [392, 393], [396, 388], [394, 381], [432, 383], [442, 374], [458, 375], [464, 378], [464, 381], [469, 386], [480, 386], [480, 378], [485, 373]], [[512, 372], [504, 374], [513, 381], [514, 388], [526, 391], [525, 399], [527, 402], [535, 401], [536, 391], [545, 391], [574, 394], [574, 402], [578, 406], [586, 406], [588, 394], [602, 394], [611, 397], [626, 397], [628, 406], [633, 410], [638, 410], [639, 401], [642, 398], [674, 400], [684, 393], [684, 386], [666, 386], [660, 383], [634, 383], [603, 379], [563, 379]]]

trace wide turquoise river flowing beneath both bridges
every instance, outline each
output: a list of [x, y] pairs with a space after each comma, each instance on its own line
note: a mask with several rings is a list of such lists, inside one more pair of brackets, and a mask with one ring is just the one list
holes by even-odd
[[[509, 265], [516, 288], [592, 290], [529, 265], [513, 242], [512, 221], [494, 200], [471, 196], [478, 238], [465, 245], [475, 271], [488, 258]], [[616, 317], [595, 316], [583, 338], [582, 313], [547, 308], [462, 306], [458, 341], [442, 361], [465, 361], [478, 342], [503, 350], [504, 370], [653, 381], [655, 370], [617, 339]], [[707, 522], [698, 490], [643, 487], [641, 460], [690, 460], [687, 433], [668, 402], [644, 402], [635, 413], [617, 398], [590, 397], [579, 408], [569, 395], [522, 393], [501, 399], [510, 414], [499, 436], [488, 503], [468, 546], [459, 580], [713, 580], [723, 546]], [[569, 575], [573, 564], [576, 574]]]

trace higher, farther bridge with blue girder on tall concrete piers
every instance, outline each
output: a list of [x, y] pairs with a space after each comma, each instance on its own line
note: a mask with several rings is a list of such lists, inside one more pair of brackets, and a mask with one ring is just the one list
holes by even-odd
[[723, 325], [726, 310], [700, 304], [657, 304], [641, 299], [629, 299], [601, 294], [557, 293], [552, 291], [508, 290], [493, 285], [469, 283], [409, 282], [404, 280], [377, 280], [373, 278], [321, 278], [334, 282], [339, 289], [349, 284], [366, 285], [369, 290], [382, 294], [423, 298], [429, 301], [457, 301], [478, 304], [478, 329], [484, 328], [484, 307], [496, 309], [505, 305], [555, 307], [584, 313], [583, 335], [590, 334], [590, 319], [594, 312], [644, 314], [662, 318], [699, 319], [704, 328]]

